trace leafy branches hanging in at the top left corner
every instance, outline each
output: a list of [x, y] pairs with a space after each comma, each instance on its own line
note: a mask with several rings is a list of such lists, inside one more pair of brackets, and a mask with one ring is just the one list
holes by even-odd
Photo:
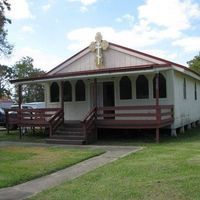
[[0, 56], [11, 54], [13, 46], [6, 39], [8, 31], [5, 29], [6, 24], [11, 20], [5, 17], [5, 10], [10, 10], [10, 4], [7, 0], [0, 0]]

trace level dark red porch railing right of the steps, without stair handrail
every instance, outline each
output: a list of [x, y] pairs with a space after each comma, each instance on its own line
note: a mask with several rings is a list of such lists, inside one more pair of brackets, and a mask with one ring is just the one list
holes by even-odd
[[99, 126], [151, 128], [163, 127], [173, 122], [172, 105], [145, 105], [145, 106], [114, 106], [99, 107], [97, 109]]

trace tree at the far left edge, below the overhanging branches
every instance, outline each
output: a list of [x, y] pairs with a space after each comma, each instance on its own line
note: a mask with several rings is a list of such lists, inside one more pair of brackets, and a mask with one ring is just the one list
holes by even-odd
[[12, 68], [0, 65], [0, 98], [11, 96], [10, 77], [12, 77]]

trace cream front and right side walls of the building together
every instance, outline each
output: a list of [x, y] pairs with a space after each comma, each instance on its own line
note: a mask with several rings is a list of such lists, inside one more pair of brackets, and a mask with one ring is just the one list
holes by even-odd
[[[174, 105], [174, 124], [172, 128], [179, 128], [192, 122], [200, 120], [200, 82], [186, 74], [168, 70], [161, 72], [166, 78], [167, 98], [159, 99], [160, 105]], [[132, 83], [132, 99], [120, 100], [119, 81], [122, 76], [114, 78], [97, 78], [98, 86], [98, 105], [103, 106], [103, 82], [113, 81], [115, 86], [115, 105], [116, 106], [134, 106], [134, 105], [155, 105], [153, 98], [153, 78], [155, 73], [145, 73], [144, 75], [149, 81], [149, 98], [136, 99], [136, 79], [139, 74], [129, 75]], [[186, 79], [187, 98], [183, 98], [183, 80]], [[75, 83], [76, 80], [71, 80], [72, 85], [72, 102], [64, 102], [65, 120], [83, 120], [85, 115], [91, 109], [91, 91], [90, 84], [92, 80], [84, 80], [86, 86], [86, 101], [75, 101]], [[195, 82], [197, 86], [197, 100], [194, 97]], [[58, 82], [60, 86], [60, 82]], [[46, 102], [48, 108], [59, 108], [61, 102], [50, 102], [50, 85], [46, 84]], [[60, 97], [61, 99], [61, 97]]]

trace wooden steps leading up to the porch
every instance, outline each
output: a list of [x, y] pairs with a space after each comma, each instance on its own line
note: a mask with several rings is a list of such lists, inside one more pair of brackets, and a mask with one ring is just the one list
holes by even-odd
[[46, 142], [51, 144], [86, 144], [83, 124], [80, 121], [65, 122]]

